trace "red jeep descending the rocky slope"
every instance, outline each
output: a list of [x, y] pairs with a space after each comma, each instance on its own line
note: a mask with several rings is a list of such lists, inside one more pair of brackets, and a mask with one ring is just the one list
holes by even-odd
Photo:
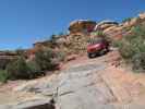
[[105, 38], [90, 39], [87, 45], [88, 58], [105, 55], [109, 51], [109, 43]]

